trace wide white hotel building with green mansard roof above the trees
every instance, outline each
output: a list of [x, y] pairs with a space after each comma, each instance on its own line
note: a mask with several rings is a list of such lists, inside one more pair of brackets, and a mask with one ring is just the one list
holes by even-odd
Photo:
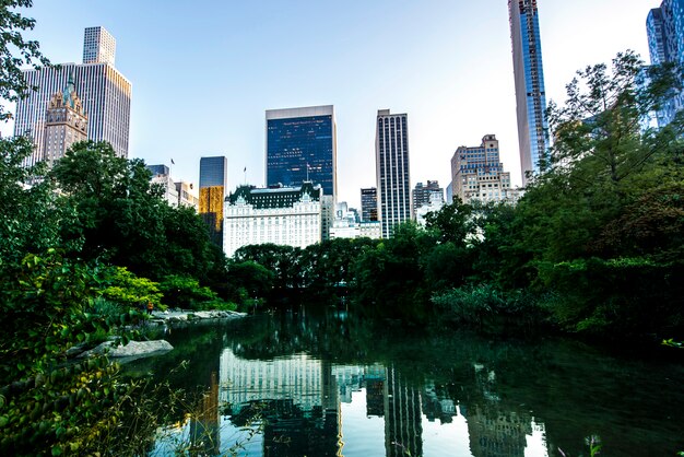
[[305, 248], [322, 239], [322, 189], [238, 187], [225, 200], [223, 250], [232, 257], [248, 245], [273, 243]]

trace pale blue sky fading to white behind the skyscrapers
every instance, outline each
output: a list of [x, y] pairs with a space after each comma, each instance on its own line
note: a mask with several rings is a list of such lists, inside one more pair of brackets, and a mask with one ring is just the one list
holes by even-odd
[[[656, 0], [539, 0], [546, 99], [588, 65], [633, 49], [648, 62]], [[83, 31], [117, 40], [132, 83], [129, 157], [198, 183], [228, 159], [228, 189], [266, 181], [267, 109], [334, 105], [339, 201], [376, 185], [378, 109], [406, 113], [412, 186], [450, 181], [450, 159], [494, 133], [520, 185], [506, 0], [34, 0], [25, 11], [54, 63], [81, 62]], [[0, 127], [11, 134], [11, 124]], [[247, 172], [244, 173], [244, 168]]]

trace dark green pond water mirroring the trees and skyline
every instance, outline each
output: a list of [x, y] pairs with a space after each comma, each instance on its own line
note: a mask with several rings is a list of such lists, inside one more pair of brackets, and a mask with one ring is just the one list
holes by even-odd
[[161, 431], [153, 456], [190, 444], [208, 456], [569, 457], [589, 455], [591, 435], [606, 456], [684, 450], [675, 353], [434, 335], [304, 308], [165, 338], [174, 351], [129, 370], [199, 386], [204, 400]]

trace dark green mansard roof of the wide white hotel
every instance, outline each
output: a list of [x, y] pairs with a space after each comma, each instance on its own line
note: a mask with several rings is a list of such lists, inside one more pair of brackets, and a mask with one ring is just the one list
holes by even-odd
[[250, 186], [240, 186], [231, 194], [226, 201], [236, 204], [243, 200], [255, 209], [263, 210], [271, 208], [292, 208], [296, 202], [310, 198], [312, 201], [320, 200], [320, 186], [314, 186], [310, 181], [303, 183], [302, 187], [281, 187], [257, 189]]

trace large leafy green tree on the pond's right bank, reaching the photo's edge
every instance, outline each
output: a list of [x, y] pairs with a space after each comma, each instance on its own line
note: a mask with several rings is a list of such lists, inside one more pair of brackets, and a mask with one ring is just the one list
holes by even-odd
[[[529, 186], [512, 223], [536, 270], [532, 285], [558, 292], [556, 319], [602, 335], [682, 331], [684, 117], [642, 119], [681, 89], [681, 69], [644, 69], [633, 52], [612, 71], [588, 67], [552, 105], [556, 139], [547, 171]], [[667, 335], [662, 335], [663, 337]]]

